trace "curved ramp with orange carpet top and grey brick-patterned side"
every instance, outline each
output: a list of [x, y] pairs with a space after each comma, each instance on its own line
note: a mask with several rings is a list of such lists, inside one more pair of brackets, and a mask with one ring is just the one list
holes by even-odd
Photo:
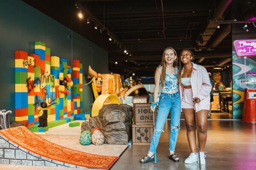
[[0, 130], [0, 164], [109, 169], [117, 159], [62, 147], [25, 126]]

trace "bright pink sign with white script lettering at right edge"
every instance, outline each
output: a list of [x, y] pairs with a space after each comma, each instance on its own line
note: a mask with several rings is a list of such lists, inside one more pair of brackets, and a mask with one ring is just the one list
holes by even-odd
[[234, 46], [238, 57], [256, 56], [256, 40], [235, 40]]

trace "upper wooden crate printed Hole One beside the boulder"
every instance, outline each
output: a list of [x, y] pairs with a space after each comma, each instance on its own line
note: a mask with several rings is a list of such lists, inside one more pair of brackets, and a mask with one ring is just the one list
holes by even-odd
[[[134, 123], [136, 125], [153, 125], [153, 112], [150, 109], [151, 103], [134, 103]], [[155, 121], [157, 110], [155, 111]]]

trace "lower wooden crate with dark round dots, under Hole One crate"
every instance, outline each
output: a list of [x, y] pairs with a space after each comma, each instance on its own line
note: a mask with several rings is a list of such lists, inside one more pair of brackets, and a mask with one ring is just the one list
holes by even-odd
[[132, 144], [150, 145], [153, 125], [132, 125]]

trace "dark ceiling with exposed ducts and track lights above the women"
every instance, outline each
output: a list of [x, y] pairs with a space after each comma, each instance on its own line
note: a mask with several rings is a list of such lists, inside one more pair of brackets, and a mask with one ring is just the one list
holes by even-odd
[[[183, 48], [195, 51], [195, 62], [208, 69], [231, 65], [231, 26], [222, 24], [218, 29], [216, 21], [231, 19], [232, 0], [163, 0], [163, 13], [161, 0], [23, 1], [108, 49], [109, 71], [114, 73], [152, 77], [169, 46], [178, 54]], [[77, 17], [79, 11], [83, 20]]]

